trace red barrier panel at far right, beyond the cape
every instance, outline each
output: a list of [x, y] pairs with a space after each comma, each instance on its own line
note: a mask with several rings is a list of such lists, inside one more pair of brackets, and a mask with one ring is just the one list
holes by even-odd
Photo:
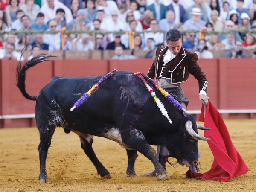
[[255, 109], [256, 60], [219, 59], [219, 108]]

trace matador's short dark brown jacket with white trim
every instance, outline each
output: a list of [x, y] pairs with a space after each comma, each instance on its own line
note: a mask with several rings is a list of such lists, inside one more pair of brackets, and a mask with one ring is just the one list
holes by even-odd
[[148, 70], [148, 77], [151, 79], [168, 78], [170, 83], [177, 84], [186, 81], [191, 73], [198, 80], [199, 90], [207, 92], [206, 75], [197, 64], [197, 54], [181, 47], [178, 55], [172, 61], [164, 64], [163, 55], [167, 50], [167, 46], [157, 48], [155, 60]]

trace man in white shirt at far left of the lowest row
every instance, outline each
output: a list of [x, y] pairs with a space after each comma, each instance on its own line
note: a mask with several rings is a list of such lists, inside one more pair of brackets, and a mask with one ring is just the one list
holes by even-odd
[[0, 59], [9, 60], [24, 60], [20, 52], [15, 51], [15, 45], [13, 43], [7, 43], [5, 49], [0, 49]]

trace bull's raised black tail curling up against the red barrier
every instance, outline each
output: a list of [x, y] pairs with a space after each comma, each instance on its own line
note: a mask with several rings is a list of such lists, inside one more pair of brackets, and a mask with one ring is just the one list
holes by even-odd
[[17, 87], [20, 89], [20, 92], [26, 99], [29, 100], [36, 100], [37, 96], [30, 96], [26, 92], [26, 84], [25, 84], [25, 79], [26, 79], [26, 70], [28, 70], [30, 67], [35, 66], [38, 63], [44, 62], [49, 60], [49, 58], [52, 58], [55, 56], [52, 55], [47, 55], [47, 54], [41, 54], [38, 55], [37, 57], [32, 58], [30, 61], [26, 62], [23, 66], [21, 65], [21, 62], [19, 62], [17, 68], [16, 68], [16, 82], [17, 82]]

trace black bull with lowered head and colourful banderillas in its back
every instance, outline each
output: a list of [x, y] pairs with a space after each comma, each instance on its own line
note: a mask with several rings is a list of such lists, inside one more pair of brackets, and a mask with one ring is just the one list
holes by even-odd
[[[138, 76], [129, 72], [116, 72], [104, 81], [86, 102], [70, 112], [73, 104], [98, 77], [54, 77], [43, 87], [38, 96], [30, 96], [25, 90], [26, 70], [52, 56], [40, 55], [32, 58], [23, 67], [17, 66], [17, 87], [23, 96], [36, 100], [35, 119], [40, 133], [38, 146], [41, 183], [47, 181], [46, 158], [55, 128], [63, 127], [66, 133], [73, 131], [81, 141], [81, 148], [103, 178], [110, 178], [107, 169], [96, 157], [93, 135], [118, 142], [127, 151], [128, 167], [126, 176], [135, 176], [134, 163], [137, 151], [154, 164], [160, 179], [169, 177], [157, 160], [156, 152], [150, 145], [165, 146], [170, 157], [188, 166], [198, 160], [198, 140], [208, 140], [197, 134], [195, 118], [183, 115], [150, 84], [163, 103], [172, 124], [164, 117]], [[190, 133], [189, 133], [190, 132]]]

